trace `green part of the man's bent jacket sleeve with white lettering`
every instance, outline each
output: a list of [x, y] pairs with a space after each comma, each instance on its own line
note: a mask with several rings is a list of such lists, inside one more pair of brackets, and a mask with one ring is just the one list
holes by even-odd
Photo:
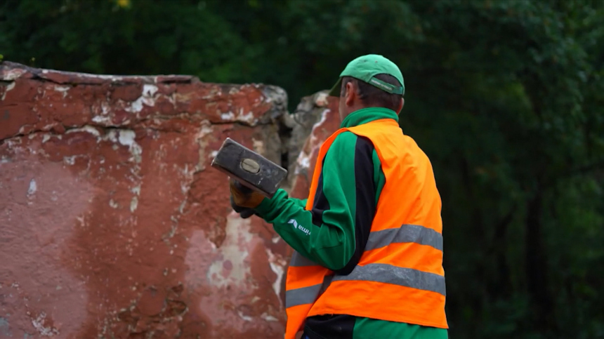
[[311, 211], [304, 208], [306, 200], [289, 198], [284, 190], [256, 208], [287, 244], [330, 270], [346, 266], [355, 253], [356, 140], [353, 133], [341, 133], [329, 147]]

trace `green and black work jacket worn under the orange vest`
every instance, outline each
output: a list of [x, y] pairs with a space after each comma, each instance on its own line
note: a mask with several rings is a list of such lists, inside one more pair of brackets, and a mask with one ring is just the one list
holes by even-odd
[[[367, 124], [398, 115], [379, 107], [359, 109], [341, 127]], [[275, 231], [298, 253], [336, 274], [348, 274], [367, 244], [377, 201], [386, 178], [372, 142], [346, 131], [336, 137], [327, 152], [315, 204], [306, 211], [306, 199], [288, 197], [280, 189], [265, 198], [256, 214], [273, 224]], [[308, 225], [291, 227], [289, 220]], [[310, 232], [309, 232], [310, 231]], [[310, 235], [309, 235], [310, 234]], [[379, 319], [331, 314], [308, 317], [305, 333], [311, 339], [446, 339], [447, 330]]]

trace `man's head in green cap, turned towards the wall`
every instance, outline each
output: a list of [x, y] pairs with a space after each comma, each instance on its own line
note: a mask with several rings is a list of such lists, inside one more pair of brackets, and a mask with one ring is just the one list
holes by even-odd
[[400, 69], [381, 55], [362, 55], [350, 61], [329, 95], [340, 97], [340, 118], [365, 107], [385, 107], [400, 113], [405, 103]]

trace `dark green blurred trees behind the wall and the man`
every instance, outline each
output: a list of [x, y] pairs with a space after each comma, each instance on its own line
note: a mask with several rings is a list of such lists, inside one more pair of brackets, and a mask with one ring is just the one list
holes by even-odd
[[291, 109], [386, 55], [442, 194], [450, 338], [604, 338], [604, 1], [5, 0], [0, 53]]

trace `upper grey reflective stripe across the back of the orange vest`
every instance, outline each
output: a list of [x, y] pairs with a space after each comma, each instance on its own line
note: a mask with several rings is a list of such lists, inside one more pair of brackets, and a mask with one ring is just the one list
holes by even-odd
[[419, 225], [402, 225], [398, 228], [370, 232], [365, 251], [405, 242], [428, 245], [442, 251], [442, 234]]

